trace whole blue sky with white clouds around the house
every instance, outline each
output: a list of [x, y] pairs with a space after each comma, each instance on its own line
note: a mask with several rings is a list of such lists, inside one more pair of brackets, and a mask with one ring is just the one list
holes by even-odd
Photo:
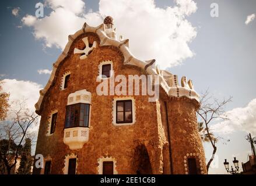
[[[38, 2], [44, 16], [36, 17]], [[256, 135], [256, 1], [255, 0], [41, 0], [1, 1], [0, 78], [10, 100], [26, 98], [33, 110], [38, 91], [50, 77], [52, 63], [83, 23], [98, 26], [112, 16], [117, 35], [142, 60], [156, 59], [162, 69], [187, 76], [200, 94], [232, 96], [229, 121], [212, 124], [220, 140], [210, 174], [225, 174], [224, 159], [247, 162], [245, 136]], [[213, 17], [212, 3], [218, 5]], [[216, 8], [216, 6], [214, 6]], [[216, 13], [216, 11], [215, 11]], [[204, 144], [206, 159], [212, 149]], [[241, 164], [240, 164], [241, 167]]]

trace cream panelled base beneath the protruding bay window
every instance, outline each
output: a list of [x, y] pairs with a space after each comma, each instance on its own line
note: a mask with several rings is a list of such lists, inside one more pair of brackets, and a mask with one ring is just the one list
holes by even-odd
[[85, 142], [89, 140], [89, 128], [72, 127], [64, 129], [64, 144], [68, 145], [71, 150], [81, 149]]

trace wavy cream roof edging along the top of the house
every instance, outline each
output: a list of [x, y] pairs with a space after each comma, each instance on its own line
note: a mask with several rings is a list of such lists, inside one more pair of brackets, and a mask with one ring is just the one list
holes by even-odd
[[77, 31], [73, 35], [68, 36], [68, 44], [66, 44], [64, 51], [61, 53], [57, 61], [53, 64], [52, 73], [50, 79], [48, 80], [48, 83], [45, 85], [43, 90], [40, 90], [40, 98], [38, 99], [38, 102], [35, 105], [36, 113], [40, 113], [41, 103], [43, 102], [44, 95], [51, 87], [52, 81], [54, 80], [55, 73], [59, 64], [68, 55], [68, 51], [73, 41], [75, 41], [75, 39], [83, 33], [96, 33], [100, 38], [100, 46], [112, 45], [120, 49], [120, 51], [124, 55], [124, 65], [138, 66], [146, 70], [146, 72], [150, 75], [159, 76], [159, 83], [163, 90], [167, 93], [167, 95], [177, 98], [185, 96], [190, 99], [195, 99], [195, 101], [199, 103], [199, 95], [197, 94], [197, 92], [195, 92], [191, 80], [187, 82], [186, 77], [183, 76], [181, 78], [181, 85], [179, 85], [178, 77], [176, 75], [171, 74], [169, 71], [160, 70], [158, 66], [155, 65], [155, 59], [143, 61], [137, 59], [134, 55], [132, 55], [128, 47], [129, 40], [118, 41], [115, 38], [108, 37], [105, 31], [104, 24], [100, 24], [100, 26], [97, 27], [91, 27], [85, 23], [81, 30]]

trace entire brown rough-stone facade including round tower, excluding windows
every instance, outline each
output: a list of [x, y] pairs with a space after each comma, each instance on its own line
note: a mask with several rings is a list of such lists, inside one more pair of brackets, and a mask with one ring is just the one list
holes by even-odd
[[[149, 102], [148, 95], [132, 96], [134, 124], [113, 124], [113, 101], [131, 96], [97, 95], [100, 63], [111, 61], [115, 76], [122, 74], [127, 79], [128, 75], [149, 73], [146, 67], [124, 65], [127, 54], [114, 44], [103, 45], [104, 38], [97, 32], [83, 28], [76, 37], [69, 36], [71, 44], [68, 51], [64, 51], [65, 57], [62, 53], [61, 59], [54, 64], [50, 83], [40, 92], [41, 98], [36, 105], [36, 112], [41, 115], [36, 154], [51, 158], [51, 174], [67, 173], [69, 156], [77, 159], [76, 174], [101, 174], [104, 160], [114, 162], [114, 174], [136, 174], [138, 171], [141, 174], [188, 174], [186, 161], [189, 157], [196, 159], [198, 173], [206, 174], [204, 148], [197, 130], [198, 101], [191, 95], [170, 95], [166, 87], [171, 81], [164, 82], [166, 87], [160, 87], [160, 98], [156, 102]], [[97, 45], [81, 59], [81, 55], [73, 51], [85, 49], [82, 39], [86, 37], [91, 46], [93, 42]], [[69, 84], [64, 89], [62, 81], [67, 73], [70, 73]], [[89, 138], [82, 148], [71, 149], [64, 144], [66, 105], [68, 96], [80, 90], [91, 93]], [[55, 131], [48, 135], [51, 114], [56, 111]], [[34, 174], [41, 172], [34, 166]]]

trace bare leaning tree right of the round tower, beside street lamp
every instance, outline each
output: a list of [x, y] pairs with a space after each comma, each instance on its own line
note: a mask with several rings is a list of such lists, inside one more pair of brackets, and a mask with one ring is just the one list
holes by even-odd
[[206, 138], [209, 140], [213, 148], [211, 159], [209, 159], [209, 162], [206, 165], [207, 171], [209, 170], [209, 167], [217, 151], [216, 142], [218, 141], [218, 138], [212, 135], [209, 125], [213, 123], [214, 120], [229, 120], [224, 107], [230, 101], [232, 101], [232, 97], [229, 97], [229, 99], [223, 99], [223, 101], [212, 98], [212, 96], [209, 95], [208, 90], [202, 94], [200, 99], [200, 108], [197, 113], [204, 123]]

